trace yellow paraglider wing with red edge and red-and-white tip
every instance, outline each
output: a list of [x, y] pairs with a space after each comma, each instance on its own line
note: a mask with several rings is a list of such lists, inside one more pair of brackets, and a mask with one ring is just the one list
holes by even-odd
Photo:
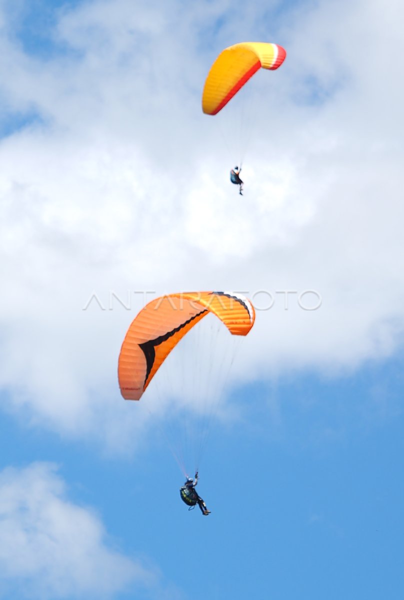
[[229, 46], [209, 71], [202, 94], [202, 110], [217, 115], [260, 68], [271, 71], [285, 60], [282, 46], [264, 42], [243, 42]]

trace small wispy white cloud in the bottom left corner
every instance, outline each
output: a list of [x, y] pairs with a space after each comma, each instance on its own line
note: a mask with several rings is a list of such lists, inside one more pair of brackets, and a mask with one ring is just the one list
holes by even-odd
[[112, 598], [155, 575], [110, 547], [99, 518], [67, 499], [55, 466], [34, 463], [0, 473], [0, 578], [0, 596]]

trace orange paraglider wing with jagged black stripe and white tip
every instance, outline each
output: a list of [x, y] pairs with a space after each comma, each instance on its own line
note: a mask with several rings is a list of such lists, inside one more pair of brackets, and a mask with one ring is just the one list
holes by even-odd
[[139, 400], [164, 359], [208, 313], [216, 314], [233, 335], [247, 335], [255, 313], [244, 296], [231, 292], [188, 292], [149, 302], [131, 323], [118, 361], [125, 400]]

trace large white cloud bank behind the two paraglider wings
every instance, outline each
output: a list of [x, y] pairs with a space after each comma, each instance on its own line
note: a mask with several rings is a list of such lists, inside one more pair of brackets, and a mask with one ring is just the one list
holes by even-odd
[[[72, 52], [47, 61], [2, 38], [2, 97], [34, 106], [46, 124], [0, 145], [9, 410], [112, 445], [125, 445], [125, 431], [133, 439], [136, 422], [142, 429], [116, 386], [140, 296], [130, 313], [83, 311], [94, 290], [106, 306], [109, 290], [270, 291], [276, 304], [245, 340], [241, 378], [337, 373], [397, 349], [403, 86], [393, 5], [302, 5], [271, 31], [288, 58], [253, 82], [243, 197], [228, 181], [238, 156], [219, 121], [200, 113], [200, 89], [223, 46], [264, 38], [267, 3], [83, 4], [55, 29]], [[231, 140], [232, 122], [223, 125]], [[316, 289], [322, 307], [283, 310], [283, 289]]]

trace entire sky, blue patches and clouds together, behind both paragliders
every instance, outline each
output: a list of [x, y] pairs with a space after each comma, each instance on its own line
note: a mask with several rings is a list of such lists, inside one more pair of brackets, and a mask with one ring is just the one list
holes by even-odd
[[[400, 12], [0, 3], [0, 598], [402, 598]], [[200, 112], [242, 40], [288, 51], [251, 82], [243, 198]], [[208, 518], [161, 435], [197, 414], [191, 353], [175, 401], [116, 382], [145, 291], [191, 289], [257, 308], [200, 465]]]

